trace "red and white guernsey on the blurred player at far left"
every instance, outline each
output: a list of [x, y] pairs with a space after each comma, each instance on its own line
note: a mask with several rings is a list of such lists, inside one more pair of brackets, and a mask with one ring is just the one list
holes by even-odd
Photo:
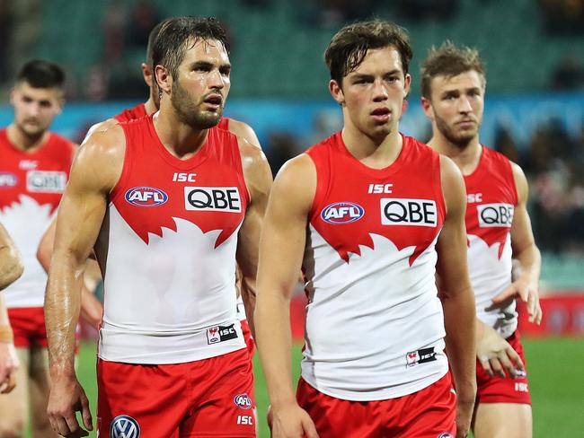
[[7, 308], [42, 307], [47, 275], [37, 260], [42, 234], [58, 207], [74, 152], [74, 145], [49, 133], [33, 153], [22, 152], [0, 130], [0, 223], [20, 250], [24, 273], [4, 293]]

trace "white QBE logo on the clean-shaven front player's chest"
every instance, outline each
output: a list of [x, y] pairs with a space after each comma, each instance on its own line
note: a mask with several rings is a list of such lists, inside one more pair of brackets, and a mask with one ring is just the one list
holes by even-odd
[[382, 198], [381, 223], [435, 227], [438, 224], [436, 202], [431, 199]]

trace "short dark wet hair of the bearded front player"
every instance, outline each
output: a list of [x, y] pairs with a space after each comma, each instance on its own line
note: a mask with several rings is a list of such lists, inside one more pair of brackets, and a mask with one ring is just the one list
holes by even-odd
[[152, 65], [162, 65], [176, 79], [187, 44], [199, 39], [217, 39], [229, 53], [226, 30], [216, 18], [175, 17], [166, 20], [154, 40]]

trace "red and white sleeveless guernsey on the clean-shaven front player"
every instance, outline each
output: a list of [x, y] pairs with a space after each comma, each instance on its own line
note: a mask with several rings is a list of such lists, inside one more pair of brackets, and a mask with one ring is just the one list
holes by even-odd
[[308, 150], [317, 186], [303, 261], [309, 303], [302, 377], [338, 399], [394, 399], [447, 373], [435, 285], [445, 218], [439, 156], [403, 136], [382, 170], [341, 133]]

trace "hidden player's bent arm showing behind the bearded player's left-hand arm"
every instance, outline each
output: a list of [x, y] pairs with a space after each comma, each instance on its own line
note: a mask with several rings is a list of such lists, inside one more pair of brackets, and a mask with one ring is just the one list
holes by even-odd
[[[37, 259], [40, 266], [49, 273], [50, 258], [53, 255], [53, 246], [55, 244], [55, 232], [57, 230], [57, 217], [50, 223], [47, 231], [42, 235], [37, 250]], [[81, 291], [81, 318], [91, 324], [95, 329], [99, 329], [102, 321], [103, 306], [92, 291], [97, 280], [100, 278], [99, 267], [93, 258], [87, 260], [84, 269], [84, 286]], [[90, 287], [93, 285], [93, 287]]]

